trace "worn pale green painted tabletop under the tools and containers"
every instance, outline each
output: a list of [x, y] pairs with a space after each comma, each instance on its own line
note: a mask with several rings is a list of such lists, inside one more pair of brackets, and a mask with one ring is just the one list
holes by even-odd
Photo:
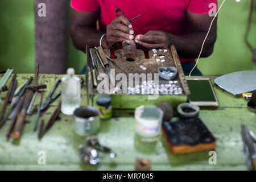
[[[18, 84], [30, 76], [18, 74]], [[58, 78], [59, 75], [40, 75], [39, 83], [48, 85], [44, 97]], [[86, 105], [85, 90], [82, 89], [81, 105]], [[117, 153], [117, 158], [109, 159], [107, 155], [101, 155], [98, 167], [82, 163], [77, 147], [85, 138], [73, 133], [72, 116], [62, 113], [61, 119], [55, 122], [42, 140], [38, 140], [37, 132], [32, 130], [36, 117], [34, 114], [27, 116], [22, 137], [18, 140], [5, 138], [10, 121], [0, 130], [0, 170], [133, 170], [136, 158], [151, 159], [153, 170], [246, 170], [241, 125], [245, 124], [256, 132], [256, 115], [247, 109], [247, 101], [243, 98], [234, 97], [216, 85], [214, 90], [220, 106], [216, 109], [201, 109], [200, 118], [217, 139], [216, 165], [209, 164], [209, 151], [173, 155], [163, 136], [156, 143], [139, 142], [134, 131], [133, 110], [115, 110], [112, 119], [101, 121], [97, 135], [100, 143]], [[6, 92], [1, 93], [2, 100], [5, 96]], [[35, 105], [39, 100], [37, 97]], [[59, 100], [53, 102], [44, 113], [42, 118], [45, 121]], [[38, 164], [39, 151], [46, 152], [46, 165]]]

